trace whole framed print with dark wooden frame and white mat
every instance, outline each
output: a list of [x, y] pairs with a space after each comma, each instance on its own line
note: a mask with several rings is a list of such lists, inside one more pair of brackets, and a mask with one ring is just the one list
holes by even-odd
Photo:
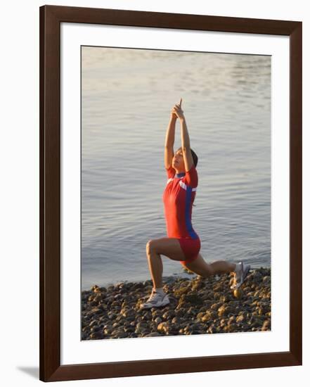
[[302, 23], [40, 7], [40, 379], [302, 364]]

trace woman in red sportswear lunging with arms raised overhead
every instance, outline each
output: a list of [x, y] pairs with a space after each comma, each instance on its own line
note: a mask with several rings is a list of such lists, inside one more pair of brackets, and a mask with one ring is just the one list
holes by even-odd
[[[250, 265], [237, 264], [224, 260], [207, 264], [200, 251], [200, 239], [191, 224], [193, 201], [198, 186], [196, 166], [198, 157], [190, 148], [190, 138], [181, 103], [172, 108], [164, 146], [164, 167], [167, 172], [167, 185], [162, 200], [167, 224], [167, 238], [152, 239], [146, 244], [148, 267], [153, 280], [150, 298], [141, 307], [160, 307], [169, 304], [169, 298], [162, 288], [162, 258], [160, 255], [181, 262], [181, 265], [201, 277], [214, 274], [234, 273], [231, 289], [238, 288]], [[174, 153], [174, 133], [176, 120], [181, 123], [181, 148]]]

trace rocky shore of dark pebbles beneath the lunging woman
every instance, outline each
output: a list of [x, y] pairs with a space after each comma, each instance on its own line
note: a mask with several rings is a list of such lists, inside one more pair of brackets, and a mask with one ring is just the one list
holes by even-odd
[[236, 291], [232, 274], [166, 277], [169, 305], [141, 310], [152, 281], [82, 291], [82, 340], [271, 330], [271, 271], [253, 269]]

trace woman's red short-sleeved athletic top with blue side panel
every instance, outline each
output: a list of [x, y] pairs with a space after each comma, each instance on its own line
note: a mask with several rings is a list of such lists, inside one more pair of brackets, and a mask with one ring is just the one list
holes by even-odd
[[192, 223], [192, 208], [195, 200], [198, 174], [195, 165], [188, 172], [176, 174], [173, 167], [166, 168], [167, 185], [162, 195], [169, 238], [198, 239]]

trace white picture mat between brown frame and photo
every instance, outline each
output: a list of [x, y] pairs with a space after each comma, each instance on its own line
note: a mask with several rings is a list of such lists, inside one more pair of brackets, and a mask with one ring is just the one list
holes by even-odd
[[[60, 44], [60, 364], [288, 351], [289, 38], [61, 23]], [[80, 341], [81, 46], [271, 55], [272, 331]]]

